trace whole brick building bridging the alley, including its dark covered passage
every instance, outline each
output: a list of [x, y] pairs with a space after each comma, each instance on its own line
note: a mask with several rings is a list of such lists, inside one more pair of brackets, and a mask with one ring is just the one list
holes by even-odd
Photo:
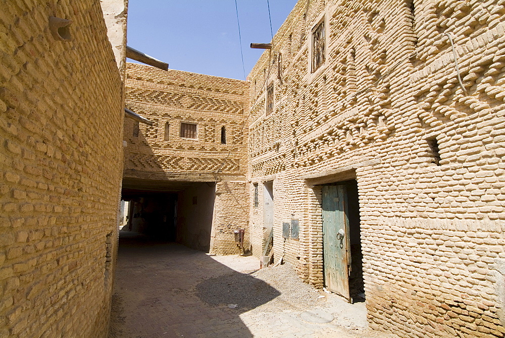
[[234, 230], [248, 216], [248, 83], [138, 64], [126, 73], [126, 106], [153, 122], [125, 123], [131, 229], [237, 254]]

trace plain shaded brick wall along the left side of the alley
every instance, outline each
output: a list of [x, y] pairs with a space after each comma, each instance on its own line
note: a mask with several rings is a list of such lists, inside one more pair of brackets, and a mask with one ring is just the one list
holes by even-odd
[[100, 2], [1, 7], [0, 336], [105, 337], [124, 112]]

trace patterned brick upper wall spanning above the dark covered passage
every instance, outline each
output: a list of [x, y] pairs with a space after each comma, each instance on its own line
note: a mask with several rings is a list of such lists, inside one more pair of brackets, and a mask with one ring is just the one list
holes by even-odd
[[[126, 72], [127, 107], [154, 122], [140, 124], [138, 136], [137, 123], [125, 122], [126, 176], [167, 179], [185, 173], [198, 179], [212, 177], [221, 165], [223, 174], [245, 173], [247, 82], [133, 63]], [[197, 138], [180, 137], [181, 123], [197, 124]]]

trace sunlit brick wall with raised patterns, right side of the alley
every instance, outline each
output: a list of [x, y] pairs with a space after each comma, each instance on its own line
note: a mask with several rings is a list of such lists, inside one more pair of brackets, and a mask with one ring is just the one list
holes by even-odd
[[[505, 332], [496, 265], [505, 257], [503, 5], [299, 1], [248, 76], [249, 191], [274, 181], [275, 255], [285, 250], [322, 286], [321, 189], [304, 177], [354, 168], [373, 328]], [[312, 35], [322, 21], [325, 61], [315, 70]], [[259, 210], [252, 203], [251, 242], [260, 247], [261, 197]], [[281, 221], [293, 215], [299, 242], [283, 246]]]

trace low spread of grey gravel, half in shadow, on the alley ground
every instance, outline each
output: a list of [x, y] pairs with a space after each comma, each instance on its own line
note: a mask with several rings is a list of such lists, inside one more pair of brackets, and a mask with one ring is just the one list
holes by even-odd
[[321, 294], [305, 284], [288, 263], [249, 274], [209, 278], [199, 283], [195, 292], [209, 305], [236, 304], [242, 311], [253, 312], [308, 310], [325, 302], [318, 298]]

